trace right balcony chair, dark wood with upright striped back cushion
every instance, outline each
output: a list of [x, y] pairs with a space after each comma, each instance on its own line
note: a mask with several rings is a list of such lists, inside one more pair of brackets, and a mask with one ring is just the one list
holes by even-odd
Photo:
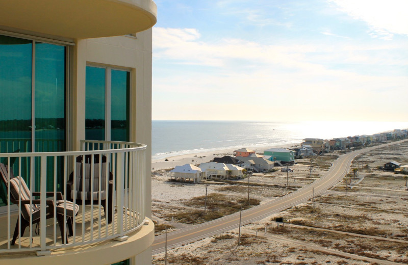
[[[113, 207], [113, 174], [109, 172], [108, 187], [106, 186], [106, 167], [107, 158], [105, 155], [101, 156], [102, 165], [99, 165], [99, 155], [94, 155], [93, 168], [91, 169], [91, 155], [85, 155], [85, 163], [83, 163], [83, 156], [77, 157], [76, 162], [76, 174], [73, 177], [73, 172], [69, 175], [67, 181], [67, 199], [73, 201], [75, 195], [75, 203], [82, 204], [85, 201], [85, 205], [90, 205], [91, 202], [94, 205], [100, 204], [104, 207], [105, 218], [107, 216], [106, 206], [108, 205], [108, 223], [112, 223], [112, 207]], [[83, 167], [85, 164], [85, 181], [83, 179]], [[100, 176], [100, 191], [99, 191], [99, 166], [101, 168]], [[109, 169], [108, 169], [109, 170]], [[93, 171], [93, 178], [91, 178]], [[73, 181], [75, 181], [75, 191], [73, 190]], [[85, 183], [85, 186], [83, 185]], [[92, 187], [92, 189], [91, 189]], [[92, 198], [91, 198], [92, 197]], [[92, 200], [91, 200], [92, 199]]]

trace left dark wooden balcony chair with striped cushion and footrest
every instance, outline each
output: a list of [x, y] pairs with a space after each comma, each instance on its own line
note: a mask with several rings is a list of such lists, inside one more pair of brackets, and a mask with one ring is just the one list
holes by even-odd
[[[37, 224], [40, 222], [41, 208], [37, 204], [40, 203], [39, 199], [31, 199], [32, 196], [41, 196], [39, 192], [31, 192], [27, 187], [24, 179], [21, 176], [14, 177], [13, 169], [10, 167], [10, 172], [8, 172], [8, 167], [0, 163], [0, 179], [6, 185], [10, 185], [10, 201], [15, 204], [21, 203], [21, 215], [17, 219], [16, 227], [14, 229], [13, 240], [11, 245], [14, 245], [18, 236], [18, 224], [20, 220], [20, 236], [23, 236], [25, 228], [30, 226], [30, 217], [32, 219], [32, 224]], [[47, 192], [47, 197], [54, 196], [54, 192]], [[31, 199], [31, 202], [30, 202]], [[30, 203], [32, 203], [30, 205]], [[64, 234], [66, 234], [66, 229], [64, 225], [64, 204], [66, 204], [66, 216], [69, 229], [69, 235], [73, 234], [72, 231], [72, 217], [78, 214], [79, 206], [73, 204], [70, 201], [64, 201], [61, 192], [57, 192], [57, 201], [50, 199], [46, 200], [46, 219], [54, 218], [56, 215], [58, 225], [60, 227], [60, 232], [62, 236], [62, 241], [64, 241]], [[54, 213], [54, 205], [56, 205], [57, 212]], [[68, 236], [66, 236], [66, 243], [68, 243]]]

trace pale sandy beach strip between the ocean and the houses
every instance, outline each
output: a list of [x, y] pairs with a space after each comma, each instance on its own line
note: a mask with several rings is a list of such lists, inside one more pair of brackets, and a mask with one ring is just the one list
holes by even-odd
[[[269, 148], [289, 148], [299, 146], [300, 142], [298, 143], [288, 143], [288, 144], [277, 144], [277, 145], [269, 145], [269, 146], [246, 146], [246, 147], [239, 147], [239, 148], [248, 148], [254, 150], [256, 153], [263, 153], [264, 150]], [[203, 152], [195, 152], [189, 154], [179, 154], [168, 156], [165, 158], [151, 160], [151, 171], [157, 170], [166, 170], [172, 169], [175, 166], [183, 166], [185, 164], [201, 164], [207, 163], [214, 159], [214, 157], [221, 157], [224, 155], [231, 155], [233, 156], [233, 151], [239, 148], [227, 148], [227, 149], [220, 149], [220, 150], [212, 150], [212, 151], [203, 151]], [[165, 161], [165, 160], [168, 161]]]

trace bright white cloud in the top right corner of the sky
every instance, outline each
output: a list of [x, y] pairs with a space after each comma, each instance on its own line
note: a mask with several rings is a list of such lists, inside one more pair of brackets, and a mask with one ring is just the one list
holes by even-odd
[[391, 39], [393, 34], [408, 35], [406, 0], [329, 0], [354, 19], [367, 22], [370, 35]]

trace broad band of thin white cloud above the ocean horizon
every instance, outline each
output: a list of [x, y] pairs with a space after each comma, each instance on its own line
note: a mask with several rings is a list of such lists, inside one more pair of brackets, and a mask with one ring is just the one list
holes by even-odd
[[[385, 62], [406, 66], [406, 59], [381, 54], [398, 48], [395, 44], [264, 45], [232, 38], [206, 42], [195, 29], [165, 28], [154, 28], [153, 38], [155, 119], [236, 119], [231, 110], [239, 102], [252, 110], [240, 112], [239, 119], [249, 120], [254, 113], [258, 119], [272, 119], [273, 110], [285, 109], [285, 115], [273, 119], [376, 117], [391, 111], [401, 119], [408, 115], [402, 105], [388, 100], [389, 93], [407, 96], [406, 75], [376, 76], [360, 73], [358, 67], [355, 71], [327, 67], [375, 67]], [[171, 73], [157, 71], [161, 62], [174, 66]], [[177, 71], [176, 64], [189, 67]], [[227, 117], [217, 117], [220, 113]]]

